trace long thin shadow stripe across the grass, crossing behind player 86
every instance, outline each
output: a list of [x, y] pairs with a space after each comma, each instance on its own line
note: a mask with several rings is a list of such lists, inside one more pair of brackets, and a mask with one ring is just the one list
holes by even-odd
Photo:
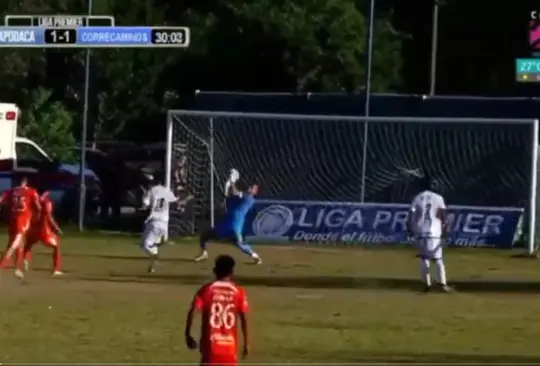
[[[162, 275], [111, 273], [107, 277], [78, 277], [85, 281], [105, 281], [119, 283], [161, 283], [198, 285], [211, 278], [201, 275]], [[411, 278], [390, 277], [348, 277], [348, 276], [237, 276], [236, 280], [243, 286], [289, 287], [307, 289], [364, 289], [364, 290], [398, 290], [419, 291], [420, 281]], [[540, 293], [540, 282], [493, 281], [493, 280], [458, 280], [452, 283], [458, 292], [469, 293]]]

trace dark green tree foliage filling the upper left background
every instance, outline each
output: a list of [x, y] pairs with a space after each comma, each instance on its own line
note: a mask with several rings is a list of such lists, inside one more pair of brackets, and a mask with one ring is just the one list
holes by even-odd
[[[0, 13], [84, 14], [87, 6], [86, 0], [9, 0]], [[366, 20], [358, 0], [95, 0], [93, 14], [112, 15], [117, 25], [189, 26], [192, 45], [92, 50], [91, 140], [156, 138], [158, 129], [148, 127], [197, 88], [364, 88]], [[383, 16], [375, 38], [374, 89], [392, 90], [401, 83], [403, 37]], [[22, 106], [21, 134], [51, 149], [74, 143], [82, 120], [85, 53], [0, 50], [0, 98]]]

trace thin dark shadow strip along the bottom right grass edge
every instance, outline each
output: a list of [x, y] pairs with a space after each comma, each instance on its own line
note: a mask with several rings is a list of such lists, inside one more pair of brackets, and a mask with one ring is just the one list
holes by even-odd
[[526, 355], [479, 355], [479, 354], [447, 354], [447, 353], [385, 353], [368, 352], [364, 354], [332, 354], [334, 360], [341, 362], [374, 362], [374, 363], [446, 363], [446, 364], [537, 364], [538, 356]]

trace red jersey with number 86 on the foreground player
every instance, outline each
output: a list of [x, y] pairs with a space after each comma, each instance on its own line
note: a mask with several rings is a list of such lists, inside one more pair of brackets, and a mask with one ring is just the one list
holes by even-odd
[[201, 353], [206, 362], [213, 359], [236, 361], [238, 353], [238, 315], [248, 311], [245, 291], [229, 281], [204, 285], [193, 299], [202, 312]]

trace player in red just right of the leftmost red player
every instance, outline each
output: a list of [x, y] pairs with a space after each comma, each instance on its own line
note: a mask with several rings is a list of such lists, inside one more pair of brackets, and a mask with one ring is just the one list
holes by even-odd
[[62, 274], [60, 270], [60, 241], [58, 236], [62, 235], [62, 230], [53, 216], [53, 203], [49, 192], [44, 192], [41, 197], [41, 215], [34, 221], [28, 231], [26, 244], [24, 245], [24, 266], [28, 270], [32, 247], [41, 242], [53, 250], [53, 276]]

